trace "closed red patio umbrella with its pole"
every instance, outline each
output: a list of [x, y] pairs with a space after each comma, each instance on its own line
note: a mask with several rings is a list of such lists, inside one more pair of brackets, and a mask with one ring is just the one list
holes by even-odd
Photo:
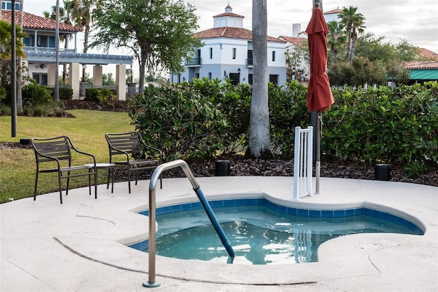
[[[307, 25], [306, 32], [310, 51], [310, 79], [307, 88], [306, 106], [311, 112], [317, 112], [318, 118], [321, 121], [320, 112], [328, 110], [334, 100], [330, 90], [329, 77], [326, 74], [326, 34], [329, 33], [329, 27], [322, 15], [319, 3], [315, 3], [312, 18], [309, 21], [309, 25]], [[315, 194], [320, 193], [320, 121], [316, 121], [316, 134], [313, 136], [316, 144]]]

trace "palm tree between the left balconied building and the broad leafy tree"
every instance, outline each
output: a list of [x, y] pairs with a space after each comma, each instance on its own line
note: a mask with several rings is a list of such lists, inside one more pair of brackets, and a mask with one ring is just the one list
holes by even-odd
[[[88, 51], [90, 25], [95, 21], [94, 10], [99, 9], [99, 0], [73, 0], [73, 19], [75, 24], [83, 29], [83, 53]], [[85, 81], [86, 66], [82, 66], [82, 80]]]

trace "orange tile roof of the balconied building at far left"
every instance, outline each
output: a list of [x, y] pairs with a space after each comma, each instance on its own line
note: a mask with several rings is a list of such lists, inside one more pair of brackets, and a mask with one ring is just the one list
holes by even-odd
[[[18, 23], [18, 14], [19, 12], [15, 12], [15, 21]], [[12, 21], [12, 11], [10, 10], [2, 10], [1, 11], [1, 19], [8, 21], [11, 23]], [[46, 29], [53, 30], [56, 29], [56, 21], [52, 21], [51, 19], [46, 19], [42, 16], [38, 16], [35, 14], [30, 14], [27, 12], [23, 12], [23, 28], [24, 29]], [[60, 31], [62, 32], [82, 32], [80, 27], [75, 27], [73, 25], [68, 25], [66, 23], [60, 23]]]

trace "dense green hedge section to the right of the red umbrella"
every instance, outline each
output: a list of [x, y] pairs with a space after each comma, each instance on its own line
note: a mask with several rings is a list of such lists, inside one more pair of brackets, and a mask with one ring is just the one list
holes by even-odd
[[399, 88], [334, 90], [335, 104], [324, 112], [322, 151], [369, 165], [437, 161], [436, 88], [437, 82], [428, 82]]

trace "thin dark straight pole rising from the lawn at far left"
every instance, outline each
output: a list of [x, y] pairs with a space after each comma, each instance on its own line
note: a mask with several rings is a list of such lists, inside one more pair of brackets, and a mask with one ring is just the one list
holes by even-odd
[[15, 36], [15, 0], [12, 0], [11, 15], [11, 127], [12, 137], [16, 137], [16, 36]]

